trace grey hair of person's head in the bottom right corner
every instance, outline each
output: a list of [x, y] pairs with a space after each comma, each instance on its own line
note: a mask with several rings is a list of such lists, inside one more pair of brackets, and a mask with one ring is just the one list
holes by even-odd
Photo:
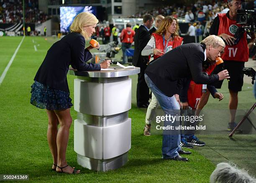
[[210, 183], [256, 183], [256, 179], [236, 165], [219, 163], [210, 176]]

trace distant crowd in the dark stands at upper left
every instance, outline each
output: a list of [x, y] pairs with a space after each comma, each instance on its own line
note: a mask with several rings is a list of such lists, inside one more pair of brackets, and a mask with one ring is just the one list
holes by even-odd
[[[48, 16], [38, 9], [38, 0], [25, 0], [25, 22], [42, 23]], [[0, 23], [19, 23], [23, 21], [21, 0], [0, 0]]]

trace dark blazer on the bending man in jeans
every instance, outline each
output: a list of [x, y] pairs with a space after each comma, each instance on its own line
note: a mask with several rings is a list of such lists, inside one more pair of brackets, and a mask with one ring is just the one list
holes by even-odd
[[168, 51], [151, 61], [145, 73], [166, 96], [179, 94], [180, 79], [193, 78], [197, 84], [214, 84], [219, 80], [217, 74], [210, 76], [202, 72], [205, 59], [205, 44], [188, 43]]

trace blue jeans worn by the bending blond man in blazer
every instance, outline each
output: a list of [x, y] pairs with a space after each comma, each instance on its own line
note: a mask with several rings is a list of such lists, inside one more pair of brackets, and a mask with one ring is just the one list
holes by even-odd
[[[161, 105], [164, 114], [167, 116], [177, 116], [179, 117], [179, 103], [174, 96], [167, 97], [161, 90], [159, 90], [153, 81], [145, 74], [145, 80], [148, 88], [156, 96], [157, 101]], [[168, 87], [168, 86], [167, 86]], [[176, 118], [177, 119], [177, 118]], [[180, 144], [180, 133], [179, 130], [175, 130], [175, 127], [179, 127], [179, 121], [175, 120], [173, 123], [169, 121], [164, 121], [164, 127], [172, 125], [174, 130], [163, 130], [163, 141], [162, 141], [162, 155], [164, 159], [175, 158], [179, 155], [178, 151], [181, 150]]]

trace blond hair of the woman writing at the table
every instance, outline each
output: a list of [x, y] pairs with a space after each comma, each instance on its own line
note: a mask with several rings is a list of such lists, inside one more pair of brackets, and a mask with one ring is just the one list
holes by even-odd
[[73, 23], [71, 24], [69, 30], [71, 32], [80, 33], [84, 36], [86, 40], [89, 39], [89, 36], [84, 31], [84, 26], [90, 26], [97, 24], [99, 20], [92, 13], [82, 12], [79, 13], [75, 18]]

